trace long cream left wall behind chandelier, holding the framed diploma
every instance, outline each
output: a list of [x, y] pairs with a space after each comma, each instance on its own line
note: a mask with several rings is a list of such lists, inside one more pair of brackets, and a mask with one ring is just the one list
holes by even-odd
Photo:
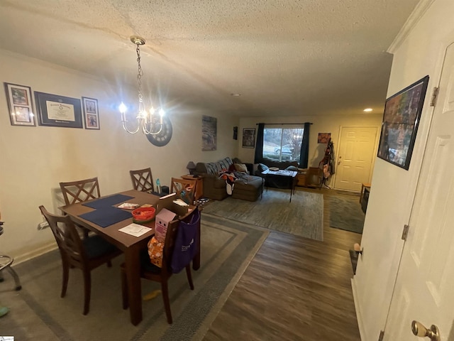
[[[186, 174], [188, 161], [217, 161], [236, 156], [233, 126], [228, 118], [203, 109], [179, 107], [169, 112], [173, 137], [167, 146], [150, 144], [143, 134], [127, 134], [116, 109], [123, 100], [137, 102], [134, 88], [103, 82], [74, 70], [0, 50], [1, 82], [33, 91], [99, 101], [100, 130], [50, 126], [11, 126], [4, 92], [0, 94], [0, 210], [6, 222], [0, 250], [16, 261], [55, 247], [38, 206], [60, 213], [55, 193], [60, 181], [97, 176], [101, 195], [132, 188], [129, 170], [150, 167], [153, 178], [170, 185]], [[128, 91], [130, 97], [128, 97]], [[201, 116], [217, 117], [217, 151], [201, 151]]]

